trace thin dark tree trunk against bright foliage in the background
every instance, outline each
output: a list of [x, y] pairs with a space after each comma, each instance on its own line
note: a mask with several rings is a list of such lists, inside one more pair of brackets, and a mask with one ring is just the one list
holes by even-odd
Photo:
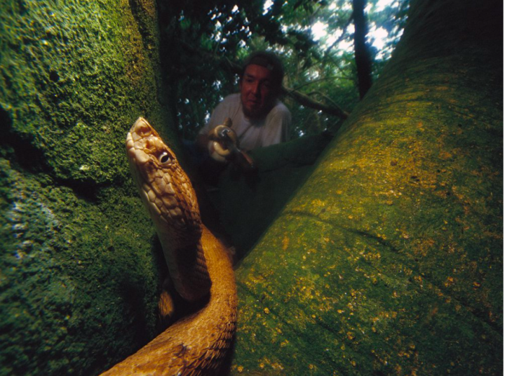
[[360, 98], [372, 87], [372, 60], [370, 49], [366, 43], [368, 25], [365, 18], [366, 0], [353, 0], [354, 18], [354, 60], [358, 75], [358, 91]]

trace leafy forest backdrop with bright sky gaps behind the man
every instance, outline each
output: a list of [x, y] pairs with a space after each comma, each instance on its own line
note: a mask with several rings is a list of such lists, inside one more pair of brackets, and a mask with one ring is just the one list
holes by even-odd
[[217, 103], [238, 91], [241, 61], [267, 49], [278, 53], [285, 67], [282, 99], [292, 112], [291, 139], [335, 133], [391, 57], [408, 5], [408, 0], [160, 1], [162, 63], [180, 136], [194, 139]]

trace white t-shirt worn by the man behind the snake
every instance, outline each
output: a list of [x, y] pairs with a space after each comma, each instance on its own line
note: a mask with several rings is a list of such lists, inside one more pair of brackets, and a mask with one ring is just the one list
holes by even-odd
[[208, 134], [210, 130], [223, 124], [227, 117], [231, 119], [231, 128], [237, 134], [241, 149], [253, 150], [288, 140], [291, 113], [280, 100], [264, 119], [253, 120], [243, 113], [240, 93], [228, 95], [214, 109], [200, 134]]

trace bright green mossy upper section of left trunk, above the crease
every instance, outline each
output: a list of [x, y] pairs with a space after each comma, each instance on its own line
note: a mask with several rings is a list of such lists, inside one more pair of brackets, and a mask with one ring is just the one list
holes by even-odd
[[0, 105], [11, 132], [43, 154], [55, 178], [124, 180], [130, 124], [140, 115], [166, 120], [159, 114], [156, 12], [149, 2], [130, 3], [133, 9], [128, 1], [12, 1], [2, 8]]

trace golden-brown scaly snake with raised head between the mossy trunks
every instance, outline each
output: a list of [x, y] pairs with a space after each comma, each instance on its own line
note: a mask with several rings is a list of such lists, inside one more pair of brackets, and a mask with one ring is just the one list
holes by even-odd
[[237, 316], [227, 248], [201, 222], [194, 188], [174, 152], [142, 117], [126, 136], [126, 154], [173, 287], [184, 300], [203, 303], [102, 375], [219, 375]]

